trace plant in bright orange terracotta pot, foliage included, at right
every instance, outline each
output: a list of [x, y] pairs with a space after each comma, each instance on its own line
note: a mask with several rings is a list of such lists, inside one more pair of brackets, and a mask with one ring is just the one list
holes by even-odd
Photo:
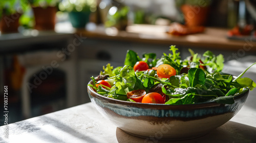
[[205, 25], [210, 4], [211, 0], [176, 0], [188, 27]]

